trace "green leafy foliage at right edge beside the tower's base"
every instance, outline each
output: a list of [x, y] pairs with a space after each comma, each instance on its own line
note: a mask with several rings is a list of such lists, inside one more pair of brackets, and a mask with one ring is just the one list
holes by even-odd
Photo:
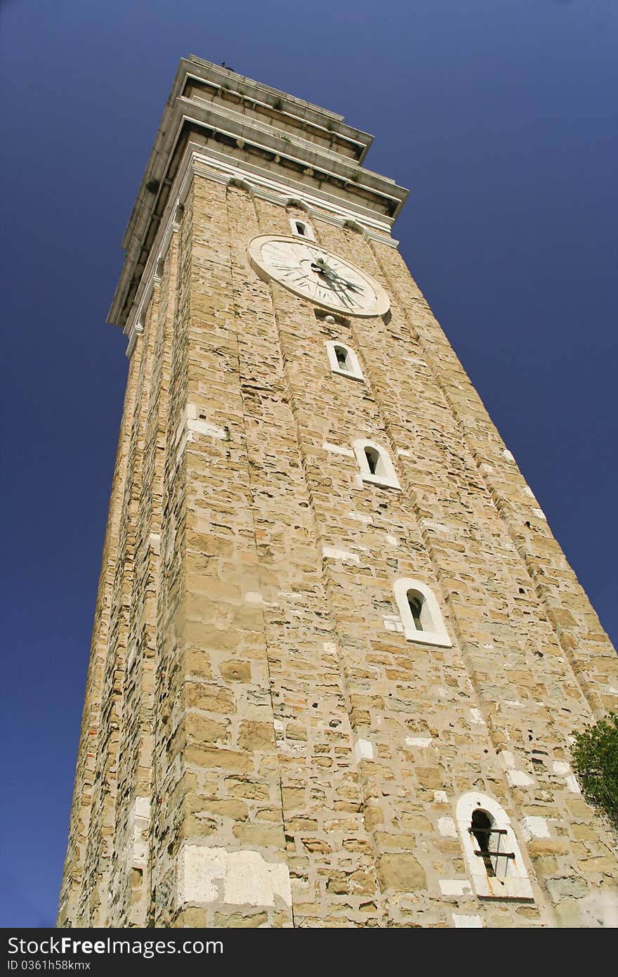
[[574, 737], [573, 770], [584, 797], [618, 831], [618, 715], [611, 712]]

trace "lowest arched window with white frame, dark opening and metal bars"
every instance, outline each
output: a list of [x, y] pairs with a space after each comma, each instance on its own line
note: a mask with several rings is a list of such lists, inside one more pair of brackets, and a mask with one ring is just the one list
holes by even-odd
[[471, 790], [459, 798], [455, 820], [475, 895], [533, 901], [515, 831], [498, 801]]

